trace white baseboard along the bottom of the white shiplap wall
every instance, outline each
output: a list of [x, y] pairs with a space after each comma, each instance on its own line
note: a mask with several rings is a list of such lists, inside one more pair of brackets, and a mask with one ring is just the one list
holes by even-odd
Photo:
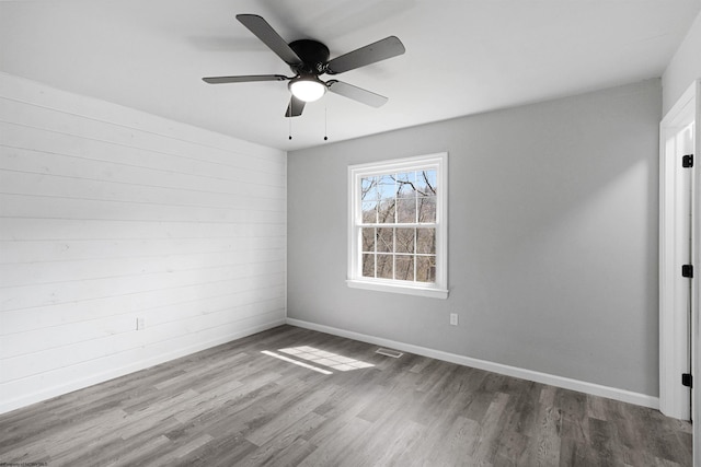
[[15, 397], [10, 400], [2, 400], [0, 401], [0, 413], [5, 413], [15, 409], [20, 409], [22, 407], [30, 406], [32, 404], [50, 399], [51, 397], [60, 396], [64, 394], [72, 393], [73, 390], [85, 388], [88, 386], [104, 383], [106, 381], [114, 380], [115, 377], [138, 372], [140, 370], [145, 370], [161, 363], [165, 363], [171, 360], [179, 359], [181, 357], [189, 355], [192, 353], [196, 353], [202, 350], [220, 346], [222, 343], [231, 342], [232, 340], [241, 339], [241, 338], [254, 335], [256, 332], [261, 332], [277, 326], [281, 326], [284, 324], [285, 324], [285, 319], [276, 319], [271, 323], [253, 326], [246, 329], [239, 330], [237, 332], [228, 334], [227, 336], [220, 337], [218, 339], [209, 340], [206, 342], [198, 342], [195, 346], [180, 348], [175, 351], [168, 352], [168, 353], [161, 353], [147, 360], [140, 360], [138, 362], [134, 362], [133, 364], [129, 364], [126, 366], [110, 369], [105, 372], [102, 372], [99, 374], [91, 374], [80, 380], [70, 381], [66, 384], [43, 388], [41, 390], [26, 394], [21, 397]]

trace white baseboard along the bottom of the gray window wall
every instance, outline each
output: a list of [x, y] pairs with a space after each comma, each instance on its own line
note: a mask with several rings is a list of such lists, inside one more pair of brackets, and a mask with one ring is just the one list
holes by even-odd
[[338, 329], [331, 326], [309, 323], [301, 319], [287, 318], [287, 324], [306, 329], [318, 330], [334, 336], [345, 337], [348, 339], [359, 340], [361, 342], [374, 343], [381, 347], [390, 347], [392, 349], [402, 350], [417, 355], [429, 357], [432, 359], [443, 360], [459, 365], [470, 366], [479, 370], [485, 370], [506, 376], [528, 380], [536, 383], [548, 384], [550, 386], [562, 387], [564, 389], [577, 390], [579, 393], [590, 394], [593, 396], [607, 397], [609, 399], [620, 400], [623, 402], [635, 404], [637, 406], [659, 409], [659, 398], [647, 396], [645, 394], [633, 393], [631, 390], [619, 389], [616, 387], [602, 386], [599, 384], [587, 383], [584, 381], [572, 380], [568, 377], [556, 376], [548, 373], [536, 372], [532, 370], [519, 369], [516, 366], [504, 365], [501, 363], [489, 362], [486, 360], [473, 359], [470, 357], [458, 355], [456, 353], [444, 352], [440, 350], [427, 349], [425, 347], [414, 346], [411, 343], [398, 342], [380, 337], [368, 336], [365, 334], [353, 332], [345, 329]]

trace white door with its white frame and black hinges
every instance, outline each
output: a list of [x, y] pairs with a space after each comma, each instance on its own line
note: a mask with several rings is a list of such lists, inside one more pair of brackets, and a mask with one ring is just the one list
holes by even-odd
[[[660, 124], [660, 229], [659, 229], [659, 409], [691, 420], [693, 392], [682, 384], [694, 365], [694, 329], [698, 314], [696, 151], [697, 83], [671, 108]], [[686, 162], [686, 163], [685, 163]], [[686, 166], [685, 166], [686, 165]], [[696, 267], [694, 278], [682, 267]], [[687, 269], [685, 271], [690, 275]]]

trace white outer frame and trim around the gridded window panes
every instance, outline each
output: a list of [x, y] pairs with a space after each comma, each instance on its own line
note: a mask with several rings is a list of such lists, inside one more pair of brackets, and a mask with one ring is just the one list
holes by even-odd
[[[422, 283], [404, 280], [363, 277], [360, 180], [364, 177], [387, 175], [393, 172], [436, 170], [436, 282]], [[350, 288], [410, 295], [448, 297], [448, 153], [394, 159], [348, 166], [348, 276]], [[393, 224], [387, 224], [392, 226]], [[398, 225], [398, 224], [394, 224]], [[402, 224], [399, 224], [402, 225]]]

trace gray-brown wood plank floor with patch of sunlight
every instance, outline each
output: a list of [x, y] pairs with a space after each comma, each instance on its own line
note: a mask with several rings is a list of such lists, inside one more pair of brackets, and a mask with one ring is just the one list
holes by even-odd
[[691, 465], [656, 410], [376, 350], [278, 327], [2, 415], [0, 464]]

